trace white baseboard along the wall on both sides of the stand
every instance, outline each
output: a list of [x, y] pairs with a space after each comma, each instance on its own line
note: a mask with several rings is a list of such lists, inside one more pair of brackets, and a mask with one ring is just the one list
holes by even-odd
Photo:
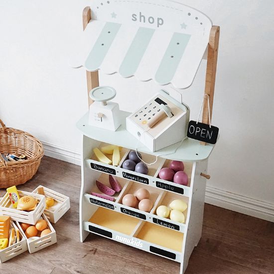
[[[42, 141], [45, 155], [66, 162], [80, 165], [80, 152]], [[205, 202], [256, 218], [274, 222], [274, 204], [258, 201], [253, 198], [230, 193], [211, 186], [206, 187]]]

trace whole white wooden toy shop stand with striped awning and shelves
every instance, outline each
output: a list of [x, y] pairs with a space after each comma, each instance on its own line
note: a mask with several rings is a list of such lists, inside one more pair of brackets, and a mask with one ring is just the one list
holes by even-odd
[[[183, 273], [201, 238], [206, 179], [210, 178], [208, 157], [214, 145], [185, 138], [189, 108], [182, 102], [182, 94], [192, 84], [202, 59], [207, 59], [202, 123], [210, 124], [220, 28], [212, 26], [202, 12], [171, 0], [93, 0], [83, 11], [83, 26], [82, 40], [70, 60], [72, 67], [87, 70], [90, 106], [90, 113], [77, 124], [83, 136], [80, 240], [92, 232], [179, 262]], [[136, 76], [140, 81], [152, 79], [162, 91], [133, 114], [120, 111], [119, 106], [107, 102], [115, 90], [94, 89], [99, 86], [99, 69], [107, 74]], [[141, 96], [134, 87], [128, 92], [133, 102]], [[201, 93], [197, 98], [198, 104], [203, 96]], [[154, 113], [149, 111], [153, 104]], [[114, 129], [106, 126], [112, 120], [118, 123]], [[111, 147], [116, 147], [116, 152], [108, 151]], [[152, 163], [159, 156], [148, 165], [147, 174], [123, 168], [129, 152], [136, 148], [145, 162]], [[171, 160], [183, 161], [187, 185], [160, 178], [160, 170]], [[110, 184], [113, 178], [121, 185], [117, 192]], [[148, 212], [123, 203], [125, 195], [135, 194], [139, 188], [150, 193], [152, 208]], [[111, 197], [102, 196], [99, 189]], [[187, 204], [185, 220], [156, 214], [160, 205], [169, 206], [173, 200]]]

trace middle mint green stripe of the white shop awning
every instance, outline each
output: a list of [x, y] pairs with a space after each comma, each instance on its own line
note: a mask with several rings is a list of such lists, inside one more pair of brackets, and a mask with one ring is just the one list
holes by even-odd
[[139, 27], [132, 44], [120, 66], [119, 73], [123, 77], [133, 76], [137, 71], [143, 54], [150, 42], [155, 29]]

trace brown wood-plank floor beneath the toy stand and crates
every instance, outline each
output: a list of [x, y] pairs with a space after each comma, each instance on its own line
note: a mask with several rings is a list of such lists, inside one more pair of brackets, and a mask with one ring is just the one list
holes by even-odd
[[[0, 264], [2, 274], [176, 274], [179, 264], [90, 234], [79, 241], [80, 167], [43, 157], [35, 177], [18, 189], [44, 185], [70, 197], [54, 226], [57, 244]], [[0, 190], [3, 196], [5, 190]], [[205, 205], [202, 238], [186, 274], [274, 274], [274, 223]]]

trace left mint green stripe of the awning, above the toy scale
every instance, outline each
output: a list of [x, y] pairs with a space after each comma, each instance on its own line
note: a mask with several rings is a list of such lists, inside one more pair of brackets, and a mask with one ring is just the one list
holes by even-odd
[[121, 24], [118, 23], [105, 24], [85, 62], [87, 70], [95, 71], [101, 66], [120, 27]]

